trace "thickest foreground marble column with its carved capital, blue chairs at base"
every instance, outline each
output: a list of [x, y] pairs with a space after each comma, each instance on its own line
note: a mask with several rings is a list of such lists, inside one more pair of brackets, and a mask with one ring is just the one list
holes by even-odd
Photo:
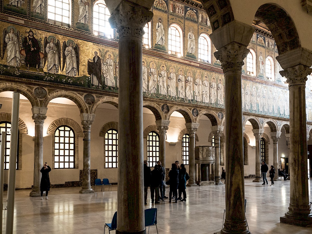
[[119, 33], [116, 234], [146, 233], [143, 173], [142, 37], [145, 24], [153, 17], [153, 13], [149, 9], [150, 7], [121, 1], [114, 11], [110, 11], [110, 25], [112, 28], [117, 28]]

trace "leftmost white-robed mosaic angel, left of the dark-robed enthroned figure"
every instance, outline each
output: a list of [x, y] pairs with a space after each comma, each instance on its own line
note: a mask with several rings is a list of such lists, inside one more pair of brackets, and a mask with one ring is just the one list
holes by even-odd
[[10, 30], [5, 37], [5, 42], [7, 43], [7, 65], [14, 67], [21, 66], [19, 41], [14, 31]]

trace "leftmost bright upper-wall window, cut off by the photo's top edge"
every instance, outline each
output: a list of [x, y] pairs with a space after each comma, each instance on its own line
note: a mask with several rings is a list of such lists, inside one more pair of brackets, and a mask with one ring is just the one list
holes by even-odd
[[48, 22], [69, 27], [69, 1], [48, 0]]

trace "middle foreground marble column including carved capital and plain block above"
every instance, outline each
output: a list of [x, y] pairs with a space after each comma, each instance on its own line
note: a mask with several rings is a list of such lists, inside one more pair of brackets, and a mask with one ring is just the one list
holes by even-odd
[[225, 80], [226, 199], [225, 222], [219, 233], [250, 233], [245, 216], [241, 67], [254, 28], [232, 21], [210, 35], [218, 50]]

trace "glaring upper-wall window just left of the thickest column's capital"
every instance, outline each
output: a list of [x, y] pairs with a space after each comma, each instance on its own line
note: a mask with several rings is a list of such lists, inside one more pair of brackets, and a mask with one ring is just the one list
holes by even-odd
[[103, 0], [95, 2], [93, 7], [93, 33], [108, 38], [113, 38], [114, 31], [110, 27], [108, 18], [110, 12]]

